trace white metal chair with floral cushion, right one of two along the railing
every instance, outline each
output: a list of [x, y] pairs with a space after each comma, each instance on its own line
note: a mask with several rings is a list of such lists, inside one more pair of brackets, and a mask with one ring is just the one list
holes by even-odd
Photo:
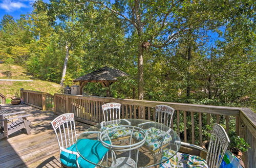
[[[170, 127], [173, 114], [174, 114], [174, 108], [167, 105], [157, 105], [155, 122], [158, 122]], [[150, 123], [152, 122], [149, 121], [146, 123], [139, 124], [139, 127], [143, 127], [143, 125], [150, 124]], [[160, 149], [164, 148], [166, 145], [169, 144], [170, 141], [172, 141], [172, 137], [168, 134], [171, 128], [169, 128], [169, 130], [166, 132], [155, 127], [151, 127], [145, 130], [147, 132], [147, 138], [144, 145], [148, 149], [150, 149], [153, 155], [158, 153]]]

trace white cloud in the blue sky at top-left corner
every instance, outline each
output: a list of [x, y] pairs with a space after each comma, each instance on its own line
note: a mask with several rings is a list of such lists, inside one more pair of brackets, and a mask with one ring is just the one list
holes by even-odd
[[7, 12], [13, 12], [20, 8], [28, 8], [28, 6], [19, 1], [4, 0], [0, 3], [0, 8], [4, 9]]

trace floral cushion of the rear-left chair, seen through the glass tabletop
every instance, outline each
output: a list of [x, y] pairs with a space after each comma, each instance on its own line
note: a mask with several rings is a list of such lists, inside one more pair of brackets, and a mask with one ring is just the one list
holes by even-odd
[[[120, 126], [120, 124], [110, 124], [110, 125], [106, 125], [100, 128], [100, 131], [104, 131], [106, 129], [110, 129], [116, 126]], [[121, 138], [121, 137], [126, 137], [126, 136], [130, 136], [132, 134], [131, 130], [124, 130], [125, 127], [118, 127], [116, 128], [116, 131], [113, 131], [113, 129], [111, 129], [111, 133], [108, 133], [108, 135], [110, 136], [111, 139], [117, 139], [117, 138]], [[103, 138], [104, 141], [108, 140], [108, 137], [104, 137]]]

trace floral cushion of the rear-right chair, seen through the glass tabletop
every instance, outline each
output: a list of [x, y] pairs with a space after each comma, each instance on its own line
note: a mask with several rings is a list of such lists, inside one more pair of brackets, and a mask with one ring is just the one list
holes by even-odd
[[[146, 145], [147, 148], [152, 150], [153, 152], [155, 152], [162, 146], [172, 141], [172, 136], [170, 136], [168, 133], [160, 129], [151, 127], [151, 128], [145, 129], [145, 131], [147, 133], [147, 137], [144, 145]], [[133, 137], [136, 138], [138, 141], [143, 139], [143, 136], [139, 132], [135, 132], [133, 134]]]

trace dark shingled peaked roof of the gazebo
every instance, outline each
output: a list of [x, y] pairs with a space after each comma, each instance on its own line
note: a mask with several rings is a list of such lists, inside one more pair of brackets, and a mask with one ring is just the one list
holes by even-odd
[[128, 76], [128, 74], [126, 74], [125, 72], [123, 72], [119, 69], [103, 67], [94, 72], [80, 76], [80, 77], [74, 79], [73, 81], [74, 82], [77, 82], [77, 81], [100, 82], [100, 81], [105, 81], [105, 80], [116, 81], [117, 77], [120, 77], [120, 76]]

